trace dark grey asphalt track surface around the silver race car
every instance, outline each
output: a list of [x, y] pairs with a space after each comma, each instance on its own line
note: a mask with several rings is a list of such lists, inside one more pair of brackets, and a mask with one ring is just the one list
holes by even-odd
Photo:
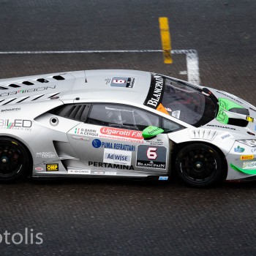
[[[256, 105], [255, 12], [255, 0], [0, 0], [0, 77], [118, 68], [187, 80], [184, 54], [164, 64], [150, 51], [17, 53], [159, 50], [158, 18], [167, 17], [172, 49], [196, 50], [201, 84]], [[83, 179], [0, 191], [0, 255], [256, 255], [255, 183], [192, 189]], [[14, 233], [22, 243], [12, 243]]]

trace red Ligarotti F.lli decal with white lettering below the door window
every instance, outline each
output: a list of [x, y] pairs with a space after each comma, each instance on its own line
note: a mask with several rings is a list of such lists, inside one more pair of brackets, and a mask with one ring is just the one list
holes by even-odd
[[102, 135], [114, 135], [117, 137], [132, 138], [132, 139], [138, 139], [138, 140], [143, 139], [142, 132], [133, 131], [130, 129], [102, 127], [100, 128], [100, 133]]

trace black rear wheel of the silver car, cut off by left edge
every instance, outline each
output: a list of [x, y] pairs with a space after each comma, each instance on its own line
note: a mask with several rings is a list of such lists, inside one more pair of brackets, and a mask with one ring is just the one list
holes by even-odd
[[0, 138], [0, 181], [15, 181], [26, 176], [29, 153], [12, 138]]

